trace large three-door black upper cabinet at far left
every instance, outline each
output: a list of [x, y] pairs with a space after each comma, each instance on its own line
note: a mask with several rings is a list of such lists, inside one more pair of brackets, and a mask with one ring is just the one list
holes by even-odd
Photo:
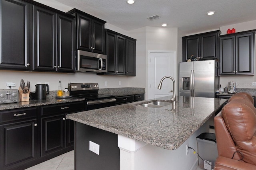
[[0, 3], [0, 69], [75, 72], [74, 16], [32, 0]]

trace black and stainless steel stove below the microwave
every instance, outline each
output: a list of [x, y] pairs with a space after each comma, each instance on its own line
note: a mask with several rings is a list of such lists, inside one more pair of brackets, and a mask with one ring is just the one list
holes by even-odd
[[86, 110], [115, 105], [115, 96], [98, 94], [98, 83], [69, 83], [68, 88], [73, 97], [86, 99]]

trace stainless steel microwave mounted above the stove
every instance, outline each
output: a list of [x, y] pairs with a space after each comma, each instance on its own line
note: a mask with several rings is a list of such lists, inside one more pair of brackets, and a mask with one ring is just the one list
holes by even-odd
[[107, 56], [77, 50], [76, 72], [107, 72]]

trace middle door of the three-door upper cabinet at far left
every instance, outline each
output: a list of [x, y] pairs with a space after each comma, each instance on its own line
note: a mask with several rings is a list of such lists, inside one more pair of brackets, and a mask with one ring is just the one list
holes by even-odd
[[34, 68], [56, 70], [56, 13], [34, 6]]

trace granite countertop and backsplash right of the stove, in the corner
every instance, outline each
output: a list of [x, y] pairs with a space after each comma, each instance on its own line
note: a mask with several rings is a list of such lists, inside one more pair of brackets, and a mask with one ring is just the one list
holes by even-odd
[[128, 96], [134, 94], [144, 94], [145, 88], [136, 87], [124, 87], [124, 88], [102, 88], [99, 89], [98, 94], [114, 95], [118, 96]]

